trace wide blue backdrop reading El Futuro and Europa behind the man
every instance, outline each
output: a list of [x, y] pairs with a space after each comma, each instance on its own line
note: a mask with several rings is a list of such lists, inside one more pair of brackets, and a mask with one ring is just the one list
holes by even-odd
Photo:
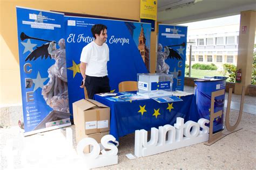
[[83, 80], [80, 74], [80, 54], [84, 46], [93, 41], [91, 27], [95, 24], [107, 26], [106, 44], [110, 49], [107, 73], [111, 92], [118, 92], [123, 81], [137, 81], [137, 73], [150, 70], [151, 25], [119, 20], [65, 16], [66, 63], [69, 84], [69, 103], [84, 98]]

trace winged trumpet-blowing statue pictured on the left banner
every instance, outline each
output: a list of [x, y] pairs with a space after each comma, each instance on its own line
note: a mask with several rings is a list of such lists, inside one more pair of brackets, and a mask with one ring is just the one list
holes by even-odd
[[36, 126], [34, 130], [49, 128], [57, 124], [60, 125], [70, 122], [65, 39], [62, 38], [58, 41], [58, 49], [56, 48], [57, 42], [55, 41], [29, 37], [22, 32], [21, 40], [24, 39], [48, 41], [48, 43], [33, 50], [26, 57], [25, 61], [35, 61], [40, 57], [42, 60], [47, 58], [55, 60], [55, 63], [48, 68], [49, 81], [42, 88], [42, 96], [46, 104], [48, 104], [53, 110]]

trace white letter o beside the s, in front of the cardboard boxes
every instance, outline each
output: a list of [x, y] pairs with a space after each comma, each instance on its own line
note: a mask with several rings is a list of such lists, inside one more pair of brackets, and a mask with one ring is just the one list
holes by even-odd
[[[92, 145], [93, 150], [90, 153], [84, 154], [84, 147]], [[100, 147], [97, 141], [93, 138], [84, 138], [77, 144], [77, 154], [85, 159], [96, 159], [99, 155]]]

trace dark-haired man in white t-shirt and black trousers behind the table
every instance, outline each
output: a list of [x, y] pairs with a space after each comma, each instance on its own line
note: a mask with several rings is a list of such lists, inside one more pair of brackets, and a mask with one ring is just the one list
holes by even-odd
[[107, 77], [107, 61], [109, 61], [109, 47], [105, 43], [107, 27], [102, 24], [92, 26], [92, 35], [95, 38], [87, 44], [80, 56], [80, 72], [83, 81], [80, 88], [87, 89], [90, 99], [98, 93], [109, 93], [109, 78]]

